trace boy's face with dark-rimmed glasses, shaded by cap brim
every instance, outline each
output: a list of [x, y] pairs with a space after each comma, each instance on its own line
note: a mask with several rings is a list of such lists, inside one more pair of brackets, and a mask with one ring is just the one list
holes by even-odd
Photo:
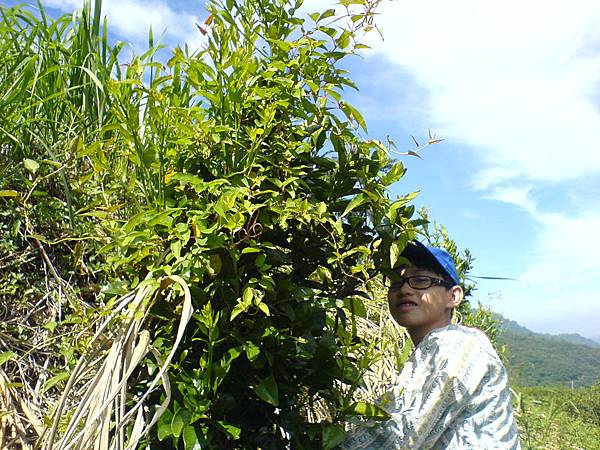
[[[404, 266], [400, 269], [404, 279], [414, 276], [431, 277], [442, 280], [440, 275], [418, 267]], [[434, 328], [450, 324], [451, 310], [462, 301], [460, 286], [447, 287], [432, 284], [427, 289], [415, 289], [408, 282], [398, 287], [390, 287], [388, 304], [390, 313], [399, 325], [411, 333], [427, 334]]]

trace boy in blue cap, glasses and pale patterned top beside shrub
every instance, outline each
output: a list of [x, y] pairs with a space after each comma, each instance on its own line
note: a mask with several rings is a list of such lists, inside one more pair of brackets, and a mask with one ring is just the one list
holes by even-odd
[[506, 370], [479, 330], [451, 325], [463, 290], [443, 249], [409, 243], [390, 280], [390, 313], [415, 350], [379, 401], [391, 418], [348, 433], [355, 449], [520, 449]]

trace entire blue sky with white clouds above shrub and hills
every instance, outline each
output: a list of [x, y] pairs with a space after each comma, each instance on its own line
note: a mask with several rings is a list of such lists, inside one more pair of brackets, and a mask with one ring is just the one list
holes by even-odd
[[[150, 24], [167, 45], [200, 45], [201, 1], [104, 10], [140, 49]], [[384, 40], [370, 33], [348, 64], [348, 100], [400, 149], [429, 129], [445, 139], [403, 157], [392, 196], [420, 190], [415, 203], [475, 255], [473, 275], [520, 280], [480, 281], [475, 300], [535, 331], [600, 336], [600, 2], [389, 0], [379, 13]]]

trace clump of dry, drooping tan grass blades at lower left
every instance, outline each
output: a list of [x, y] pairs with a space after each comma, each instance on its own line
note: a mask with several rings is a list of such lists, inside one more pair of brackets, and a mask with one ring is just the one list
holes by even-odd
[[[173, 283], [179, 285], [183, 291], [183, 306], [175, 343], [163, 362], [150, 345], [149, 331], [143, 327], [153, 300]], [[85, 374], [90, 373], [91, 365], [98, 364], [96, 358], [98, 350], [92, 350], [90, 354], [83, 355], [78, 361], [54, 413], [53, 427], [45, 439], [44, 448], [61, 450], [135, 448], [168, 406], [171, 393], [166, 370], [181, 342], [192, 312], [188, 286], [176, 275], [162, 279], [160, 284], [148, 280], [136, 291], [122, 297], [113, 313], [100, 326], [89, 343], [91, 349], [101, 348], [102, 342], [109, 339], [110, 348], [101, 358], [100, 367], [91, 380], [86, 380]], [[131, 406], [127, 398], [128, 382], [134, 370], [149, 352], [154, 355], [160, 370], [141, 398]], [[162, 382], [166, 400], [146, 424], [142, 407], [159, 382]], [[86, 383], [84, 392], [76, 393], [76, 386], [82, 383]], [[70, 411], [66, 411], [66, 404], [67, 399], [74, 395], [77, 395], [80, 401], [71, 414]], [[60, 440], [55, 443], [59, 434], [60, 419], [67, 413], [71, 416], [66, 429], [61, 433]], [[133, 430], [127, 437], [126, 430], [132, 421]]]

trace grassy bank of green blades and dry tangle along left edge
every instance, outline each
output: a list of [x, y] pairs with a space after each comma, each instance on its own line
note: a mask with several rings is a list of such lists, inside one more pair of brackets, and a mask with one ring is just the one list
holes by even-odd
[[[125, 44], [110, 42], [101, 6], [84, 1], [73, 15], [50, 18], [39, 1], [36, 10], [0, 5], [2, 394], [8, 409], [17, 405], [15, 413], [36, 412], [11, 422], [24, 448], [40, 439], [39, 421], [50, 420], [44, 415], [58, 400], [52, 387], [73, 368], [100, 319], [96, 286], [105, 280], [95, 254], [106, 233], [97, 219], [154, 202], [160, 186], [144, 177], [152, 158], [127, 158], [127, 142], [135, 148], [136, 140], [153, 140], [153, 130], [139, 130], [154, 48], [123, 69]], [[114, 146], [127, 133], [129, 140]], [[111, 176], [88, 191], [87, 180], [102, 170]], [[123, 189], [130, 183], [142, 189]]]

